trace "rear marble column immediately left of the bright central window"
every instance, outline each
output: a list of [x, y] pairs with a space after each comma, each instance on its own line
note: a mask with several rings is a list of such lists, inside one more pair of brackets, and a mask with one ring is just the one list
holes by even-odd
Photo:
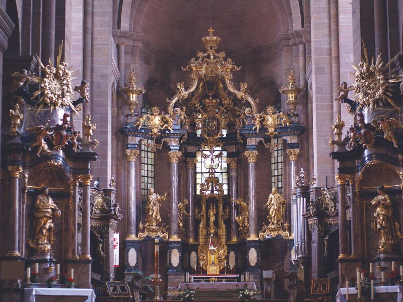
[[194, 164], [196, 159], [186, 159], [186, 198], [188, 201], [187, 212], [190, 216], [186, 219], [186, 237], [188, 242], [194, 242]]

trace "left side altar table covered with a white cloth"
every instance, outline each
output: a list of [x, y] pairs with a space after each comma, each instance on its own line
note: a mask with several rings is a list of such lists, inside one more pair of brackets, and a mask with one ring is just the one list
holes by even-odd
[[91, 288], [24, 288], [24, 302], [94, 302]]

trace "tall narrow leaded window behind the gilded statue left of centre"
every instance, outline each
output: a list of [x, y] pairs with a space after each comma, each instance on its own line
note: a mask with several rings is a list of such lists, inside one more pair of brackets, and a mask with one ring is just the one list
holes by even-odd
[[[151, 113], [151, 104], [143, 95], [142, 115]], [[145, 208], [148, 200], [148, 190], [154, 188], [154, 152], [151, 150], [151, 139], [142, 140], [142, 211], [145, 214]]]

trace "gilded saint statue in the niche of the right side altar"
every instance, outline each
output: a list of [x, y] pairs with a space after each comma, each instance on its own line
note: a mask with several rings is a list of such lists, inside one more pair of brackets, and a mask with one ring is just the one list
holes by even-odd
[[393, 217], [392, 203], [383, 186], [378, 187], [378, 196], [371, 200], [371, 204], [376, 206], [372, 229], [379, 233], [379, 250], [389, 252], [403, 236], [400, 234], [399, 223]]

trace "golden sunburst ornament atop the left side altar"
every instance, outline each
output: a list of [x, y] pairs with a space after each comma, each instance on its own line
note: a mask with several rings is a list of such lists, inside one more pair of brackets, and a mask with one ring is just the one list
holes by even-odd
[[40, 84], [40, 89], [33, 93], [32, 98], [39, 96], [38, 111], [43, 106], [48, 105], [50, 110], [62, 108], [71, 108], [76, 114], [78, 111], [73, 105], [74, 99], [72, 98], [72, 70], [67, 68], [67, 63], [61, 61], [62, 45], [59, 47], [59, 52], [56, 58], [56, 66], [52, 66], [51, 60], [48, 65], [43, 65], [38, 56], [40, 67], [42, 69], [43, 78], [31, 75], [32, 83]]

